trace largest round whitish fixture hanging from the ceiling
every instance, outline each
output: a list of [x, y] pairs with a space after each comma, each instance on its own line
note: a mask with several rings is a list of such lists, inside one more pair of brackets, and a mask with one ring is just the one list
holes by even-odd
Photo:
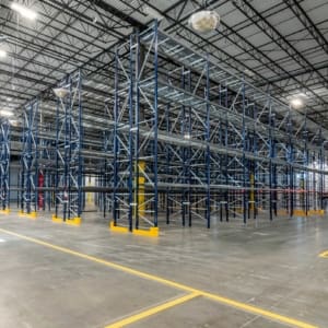
[[219, 26], [220, 15], [212, 10], [202, 10], [192, 14], [188, 24], [199, 33], [209, 33]]

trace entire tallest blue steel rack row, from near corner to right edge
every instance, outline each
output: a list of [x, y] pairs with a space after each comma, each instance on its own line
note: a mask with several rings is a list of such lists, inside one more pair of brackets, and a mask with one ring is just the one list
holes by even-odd
[[114, 122], [114, 225], [157, 226], [159, 210], [166, 223], [180, 213], [183, 225], [188, 214], [189, 225], [198, 218], [208, 227], [216, 211], [244, 223], [251, 211], [293, 216], [309, 173], [312, 207], [323, 199], [327, 132], [156, 22], [116, 49]]

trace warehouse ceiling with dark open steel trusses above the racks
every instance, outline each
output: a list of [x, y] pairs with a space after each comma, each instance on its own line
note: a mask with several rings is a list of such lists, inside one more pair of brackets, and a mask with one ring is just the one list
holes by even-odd
[[[66, 74], [82, 69], [102, 107], [112, 83], [115, 45], [154, 17], [160, 28], [213, 61], [245, 74], [254, 85], [289, 103], [328, 128], [327, 0], [39, 0], [20, 1], [37, 11], [31, 22], [0, 0], [0, 106], [20, 112], [36, 96], [46, 98]], [[215, 10], [219, 28], [208, 35], [188, 25], [191, 13]]]

